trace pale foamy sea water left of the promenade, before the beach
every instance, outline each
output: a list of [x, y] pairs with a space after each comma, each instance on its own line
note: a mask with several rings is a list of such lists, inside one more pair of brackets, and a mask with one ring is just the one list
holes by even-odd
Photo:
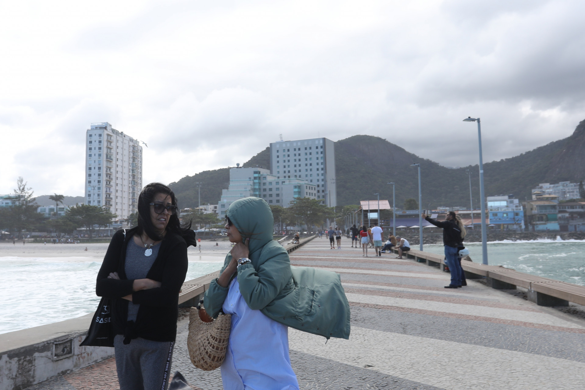
[[[186, 280], [217, 271], [223, 257], [189, 256]], [[93, 313], [101, 259], [0, 257], [0, 333]]]

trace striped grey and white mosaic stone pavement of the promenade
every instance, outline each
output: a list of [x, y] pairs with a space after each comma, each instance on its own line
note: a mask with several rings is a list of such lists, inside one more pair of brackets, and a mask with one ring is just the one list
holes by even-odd
[[[468, 281], [448, 290], [449, 274], [394, 254], [362, 257], [343, 239], [331, 250], [315, 239], [291, 254], [293, 265], [341, 274], [352, 306], [349, 340], [290, 330], [301, 389], [583, 389], [585, 320]], [[573, 306], [583, 313], [583, 306]], [[570, 310], [568, 310], [570, 311]], [[192, 367], [180, 333], [173, 371], [192, 386], [222, 389], [219, 370]], [[114, 389], [106, 360], [30, 389]]]

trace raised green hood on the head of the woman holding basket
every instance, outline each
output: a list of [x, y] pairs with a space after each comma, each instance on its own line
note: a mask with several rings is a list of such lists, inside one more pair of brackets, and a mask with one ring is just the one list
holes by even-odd
[[238, 199], [226, 212], [242, 238], [250, 239], [250, 260], [257, 260], [260, 250], [272, 241], [274, 217], [266, 201], [255, 196]]

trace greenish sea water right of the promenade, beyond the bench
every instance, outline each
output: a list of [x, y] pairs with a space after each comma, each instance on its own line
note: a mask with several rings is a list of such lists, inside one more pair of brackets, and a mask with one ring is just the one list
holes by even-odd
[[[481, 243], [464, 244], [474, 263], [481, 263]], [[418, 246], [413, 246], [418, 249]], [[443, 254], [442, 245], [427, 244], [425, 251]], [[487, 243], [490, 265], [503, 265], [526, 274], [585, 285], [585, 241], [535, 240]]]

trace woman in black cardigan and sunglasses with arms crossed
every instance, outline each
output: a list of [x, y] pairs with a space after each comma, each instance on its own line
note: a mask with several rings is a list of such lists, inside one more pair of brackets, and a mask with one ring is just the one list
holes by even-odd
[[137, 226], [118, 230], [109, 244], [95, 292], [112, 300], [121, 390], [166, 389], [187, 247], [197, 245], [190, 228], [181, 226], [173, 191], [151, 183], [138, 197]]

